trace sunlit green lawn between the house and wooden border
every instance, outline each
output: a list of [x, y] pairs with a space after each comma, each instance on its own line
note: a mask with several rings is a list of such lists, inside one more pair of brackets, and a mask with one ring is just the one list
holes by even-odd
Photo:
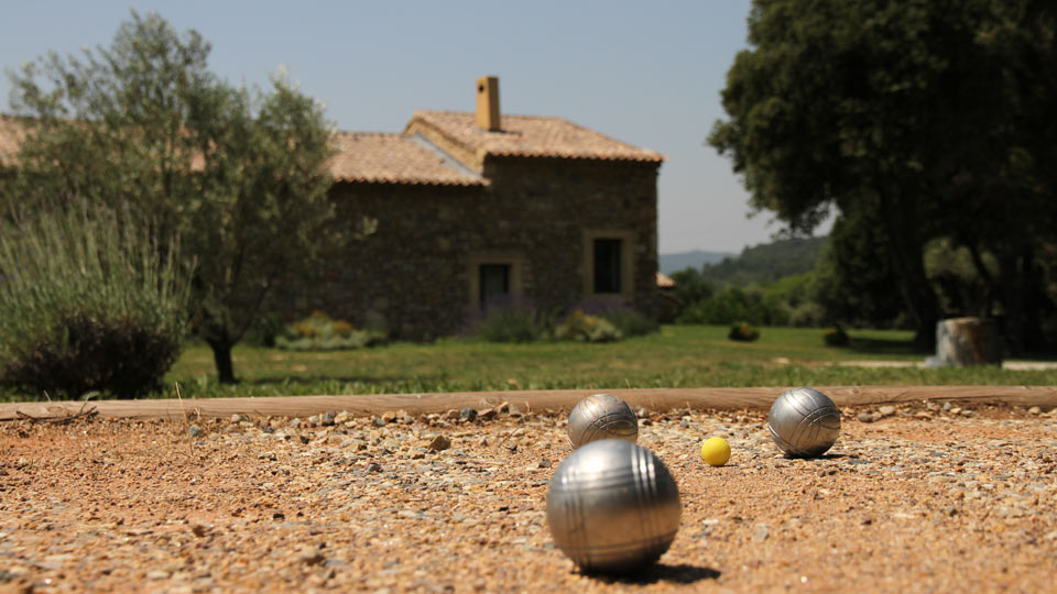
[[859, 369], [842, 360], [922, 361], [911, 333], [849, 332], [825, 346], [821, 329], [763, 328], [756, 342], [727, 339], [728, 327], [665, 326], [611, 344], [495, 344], [444, 340], [358, 351], [296, 353], [240, 345], [242, 381], [218, 386], [213, 354], [188, 345], [167, 377], [184, 397], [464, 392], [494, 389], [792, 386], [871, 384], [1057, 384], [1057, 372], [974, 369]]

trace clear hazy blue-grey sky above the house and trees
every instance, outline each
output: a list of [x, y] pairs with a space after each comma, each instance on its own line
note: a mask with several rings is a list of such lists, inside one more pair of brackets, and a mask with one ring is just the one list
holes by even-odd
[[[213, 45], [210, 69], [265, 86], [286, 69], [340, 130], [401, 132], [415, 109], [472, 111], [500, 79], [504, 113], [557, 116], [667, 157], [658, 251], [740, 252], [781, 230], [749, 218], [730, 161], [707, 145], [747, 48], [750, 0], [0, 0], [0, 66], [107, 45], [130, 9]], [[0, 77], [0, 111], [11, 85]]]

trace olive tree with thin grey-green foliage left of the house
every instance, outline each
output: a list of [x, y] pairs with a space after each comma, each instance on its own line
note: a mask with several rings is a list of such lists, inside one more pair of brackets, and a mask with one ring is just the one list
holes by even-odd
[[339, 241], [327, 198], [331, 127], [283, 77], [268, 92], [207, 68], [209, 45], [161, 16], [119, 28], [108, 47], [55, 53], [10, 74], [31, 118], [4, 196], [131, 205], [178, 235], [196, 263], [192, 322], [221, 383], [231, 348], [281, 283]]

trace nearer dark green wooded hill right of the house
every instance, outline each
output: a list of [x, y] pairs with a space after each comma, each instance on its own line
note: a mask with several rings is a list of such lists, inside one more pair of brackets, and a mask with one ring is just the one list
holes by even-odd
[[706, 264], [705, 278], [720, 284], [745, 286], [766, 284], [815, 270], [828, 237], [778, 240], [745, 248], [741, 255]]

